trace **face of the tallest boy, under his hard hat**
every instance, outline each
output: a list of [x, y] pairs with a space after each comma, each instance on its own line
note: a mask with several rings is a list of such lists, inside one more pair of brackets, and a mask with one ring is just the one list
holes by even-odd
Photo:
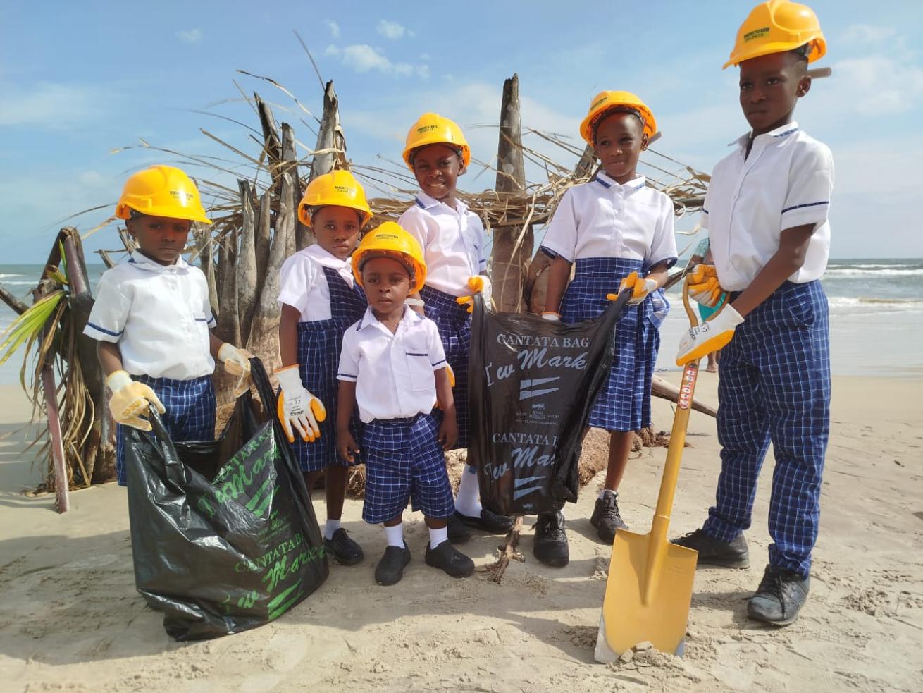
[[754, 135], [791, 122], [799, 96], [810, 89], [806, 63], [790, 53], [772, 53], [740, 64], [740, 107]]

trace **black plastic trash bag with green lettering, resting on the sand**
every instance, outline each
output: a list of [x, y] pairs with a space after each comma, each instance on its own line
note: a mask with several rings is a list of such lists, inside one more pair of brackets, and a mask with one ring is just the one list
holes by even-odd
[[269, 420], [246, 393], [218, 441], [173, 443], [153, 410], [152, 434], [127, 436], [135, 582], [177, 640], [268, 623], [330, 573], [269, 378], [250, 364]]

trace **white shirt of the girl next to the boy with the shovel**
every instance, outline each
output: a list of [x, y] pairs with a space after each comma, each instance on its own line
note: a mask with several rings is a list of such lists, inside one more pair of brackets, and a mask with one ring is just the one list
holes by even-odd
[[677, 261], [673, 202], [644, 176], [619, 185], [600, 171], [568, 188], [548, 224], [542, 246], [569, 262], [626, 258], [652, 267]]

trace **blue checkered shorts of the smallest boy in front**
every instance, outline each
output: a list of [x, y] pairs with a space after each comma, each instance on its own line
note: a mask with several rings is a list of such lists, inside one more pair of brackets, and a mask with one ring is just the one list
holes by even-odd
[[432, 414], [366, 423], [366, 503], [362, 517], [377, 525], [398, 517], [413, 499], [414, 510], [442, 519], [455, 512], [446, 456]]

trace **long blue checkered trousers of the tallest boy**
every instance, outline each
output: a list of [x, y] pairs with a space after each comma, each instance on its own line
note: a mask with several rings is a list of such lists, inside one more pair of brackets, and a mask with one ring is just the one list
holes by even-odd
[[830, 327], [821, 282], [776, 289], [737, 327], [718, 372], [721, 475], [703, 529], [731, 541], [749, 528], [772, 441], [769, 562], [807, 577], [830, 432]]

